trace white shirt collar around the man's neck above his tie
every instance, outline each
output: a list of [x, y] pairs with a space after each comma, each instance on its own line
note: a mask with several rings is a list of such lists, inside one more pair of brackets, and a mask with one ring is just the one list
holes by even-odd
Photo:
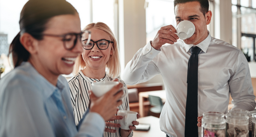
[[204, 53], [206, 53], [209, 45], [210, 45], [210, 42], [212, 40], [212, 37], [210, 35], [210, 32], [208, 31], [208, 36], [206, 37], [206, 39], [204, 39], [202, 42], [200, 42], [199, 44], [197, 45], [193, 45], [193, 44], [186, 44], [184, 43], [184, 46], [185, 46], [185, 49], [186, 49], [186, 52], [189, 51], [189, 49], [193, 46], [197, 46], [199, 47]]

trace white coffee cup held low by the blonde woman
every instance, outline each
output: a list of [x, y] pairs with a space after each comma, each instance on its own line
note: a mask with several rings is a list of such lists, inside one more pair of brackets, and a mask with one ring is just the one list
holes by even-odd
[[121, 129], [129, 130], [129, 126], [133, 126], [132, 121], [137, 120], [137, 112], [128, 111], [128, 110], [119, 110], [117, 116], [123, 116], [122, 120], [118, 120], [121, 125]]

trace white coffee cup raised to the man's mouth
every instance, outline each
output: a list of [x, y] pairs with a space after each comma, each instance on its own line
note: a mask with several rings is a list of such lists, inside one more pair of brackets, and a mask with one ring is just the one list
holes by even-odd
[[181, 21], [176, 28], [177, 35], [182, 40], [190, 38], [195, 33], [195, 30], [195, 25], [188, 20]]

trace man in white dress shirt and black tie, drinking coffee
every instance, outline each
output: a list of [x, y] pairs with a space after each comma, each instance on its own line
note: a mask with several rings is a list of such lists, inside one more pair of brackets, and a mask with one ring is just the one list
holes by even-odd
[[[207, 111], [227, 113], [230, 94], [233, 108], [254, 110], [255, 96], [244, 54], [229, 43], [211, 37], [207, 30], [212, 17], [209, 1], [174, 0], [174, 12], [177, 24], [189, 20], [195, 25], [193, 36], [178, 40], [172, 25], [162, 27], [152, 41], [137, 51], [122, 76], [132, 85], [162, 75], [166, 102], [160, 116], [161, 130], [167, 137], [184, 137], [189, 49], [193, 46], [201, 49], [198, 55], [198, 117]], [[198, 137], [201, 134], [199, 127]]]

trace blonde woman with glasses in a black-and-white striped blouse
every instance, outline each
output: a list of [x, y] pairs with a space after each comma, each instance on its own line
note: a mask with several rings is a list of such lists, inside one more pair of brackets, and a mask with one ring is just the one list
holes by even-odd
[[[120, 75], [119, 50], [111, 29], [105, 23], [97, 22], [87, 25], [84, 30], [91, 31], [90, 44], [83, 47], [83, 53], [75, 63], [75, 76], [68, 80], [76, 125], [83, 117], [90, 103], [88, 91], [92, 90], [92, 82], [112, 81]], [[83, 35], [82, 42], [87, 43], [87, 41], [88, 37]], [[125, 92], [127, 92], [127, 86], [124, 81], [117, 79], [123, 83]], [[128, 94], [122, 101], [123, 103], [118, 109], [129, 110]], [[135, 129], [134, 126], [130, 126], [130, 130], [119, 128], [121, 125], [117, 120], [122, 118], [121, 116], [113, 116], [111, 120], [106, 121], [104, 137], [132, 136], [132, 130]], [[138, 122], [133, 121], [132, 124], [138, 125]]]

